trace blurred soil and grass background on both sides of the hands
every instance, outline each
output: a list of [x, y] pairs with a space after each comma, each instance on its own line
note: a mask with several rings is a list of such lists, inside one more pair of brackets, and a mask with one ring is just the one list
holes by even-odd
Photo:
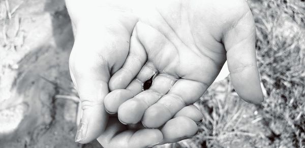
[[[265, 101], [248, 104], [218, 81], [196, 103], [199, 133], [159, 147], [305, 147], [305, 2], [248, 3]], [[0, 0], [0, 147], [101, 147], [74, 142], [73, 41], [64, 0]]]

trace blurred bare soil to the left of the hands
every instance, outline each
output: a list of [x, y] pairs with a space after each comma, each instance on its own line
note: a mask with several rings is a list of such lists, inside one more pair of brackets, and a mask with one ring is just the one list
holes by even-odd
[[74, 142], [78, 102], [68, 67], [73, 32], [63, 0], [0, 1], [0, 147]]

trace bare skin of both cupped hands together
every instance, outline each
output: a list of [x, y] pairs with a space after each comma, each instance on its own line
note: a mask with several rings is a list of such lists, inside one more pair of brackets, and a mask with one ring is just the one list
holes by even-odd
[[[66, 3], [75, 33], [70, 73], [83, 109], [77, 142], [98, 138], [104, 147], [145, 147], [194, 135], [197, 118], [202, 115], [188, 106], [214, 81], [226, 59], [239, 96], [248, 102], [263, 100], [255, 26], [244, 1]], [[141, 83], [133, 79], [144, 82], [155, 70], [160, 73], [153, 85], [142, 91]], [[109, 91], [116, 93], [111, 97]], [[139, 98], [153, 101], [142, 105]], [[172, 106], [165, 105], [168, 103]], [[123, 123], [142, 120], [147, 127], [163, 126], [143, 129], [124, 125], [116, 116], [109, 117], [105, 106], [108, 111], [118, 111]], [[190, 109], [187, 112], [186, 107]], [[162, 111], [165, 116], [158, 118], [160, 108], [171, 110]], [[132, 109], [136, 113], [129, 112]], [[192, 114], [196, 119], [189, 116]], [[158, 122], [150, 125], [156, 118]]]

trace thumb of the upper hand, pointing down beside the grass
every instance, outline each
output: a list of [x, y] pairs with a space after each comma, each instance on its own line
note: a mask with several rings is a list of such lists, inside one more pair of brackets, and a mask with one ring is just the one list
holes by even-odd
[[249, 10], [226, 32], [224, 45], [235, 91], [247, 102], [261, 103], [263, 94], [256, 64], [255, 33], [254, 20]]

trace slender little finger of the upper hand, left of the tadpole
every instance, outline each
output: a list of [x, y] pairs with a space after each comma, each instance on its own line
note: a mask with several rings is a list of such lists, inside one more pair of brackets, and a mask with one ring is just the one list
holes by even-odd
[[146, 61], [146, 52], [137, 38], [137, 29], [133, 30], [130, 40], [130, 49], [127, 59], [123, 65], [109, 81], [109, 89], [125, 89], [135, 78]]

